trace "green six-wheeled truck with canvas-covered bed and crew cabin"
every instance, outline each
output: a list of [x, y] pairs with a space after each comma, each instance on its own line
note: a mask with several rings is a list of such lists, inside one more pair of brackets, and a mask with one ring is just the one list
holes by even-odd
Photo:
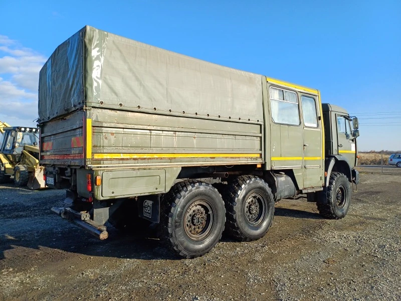
[[318, 90], [89, 26], [43, 66], [39, 126], [55, 213], [100, 239], [151, 223], [186, 258], [263, 237], [283, 198], [343, 218], [359, 180], [357, 118]]

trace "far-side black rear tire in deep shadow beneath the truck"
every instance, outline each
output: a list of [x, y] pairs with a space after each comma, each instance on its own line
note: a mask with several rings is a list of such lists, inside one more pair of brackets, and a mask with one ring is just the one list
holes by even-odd
[[123, 233], [140, 233], [147, 230], [151, 222], [138, 216], [137, 202], [132, 199], [122, 202], [108, 222]]

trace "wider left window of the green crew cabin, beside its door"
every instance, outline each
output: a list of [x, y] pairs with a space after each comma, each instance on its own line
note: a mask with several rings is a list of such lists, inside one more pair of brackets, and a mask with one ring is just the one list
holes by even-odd
[[299, 125], [298, 97], [295, 92], [270, 87], [270, 106], [275, 123]]

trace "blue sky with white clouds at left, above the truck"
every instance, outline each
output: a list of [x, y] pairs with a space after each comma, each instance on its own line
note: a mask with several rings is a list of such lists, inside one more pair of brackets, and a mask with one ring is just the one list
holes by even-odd
[[85, 25], [317, 88], [358, 113], [359, 150], [401, 149], [399, 0], [1, 1], [0, 120], [35, 124], [41, 66]]

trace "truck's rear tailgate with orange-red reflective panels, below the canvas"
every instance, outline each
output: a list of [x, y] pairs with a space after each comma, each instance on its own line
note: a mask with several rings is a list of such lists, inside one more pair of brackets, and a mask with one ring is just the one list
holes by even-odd
[[83, 110], [63, 118], [41, 124], [40, 163], [56, 166], [83, 166], [84, 161]]

